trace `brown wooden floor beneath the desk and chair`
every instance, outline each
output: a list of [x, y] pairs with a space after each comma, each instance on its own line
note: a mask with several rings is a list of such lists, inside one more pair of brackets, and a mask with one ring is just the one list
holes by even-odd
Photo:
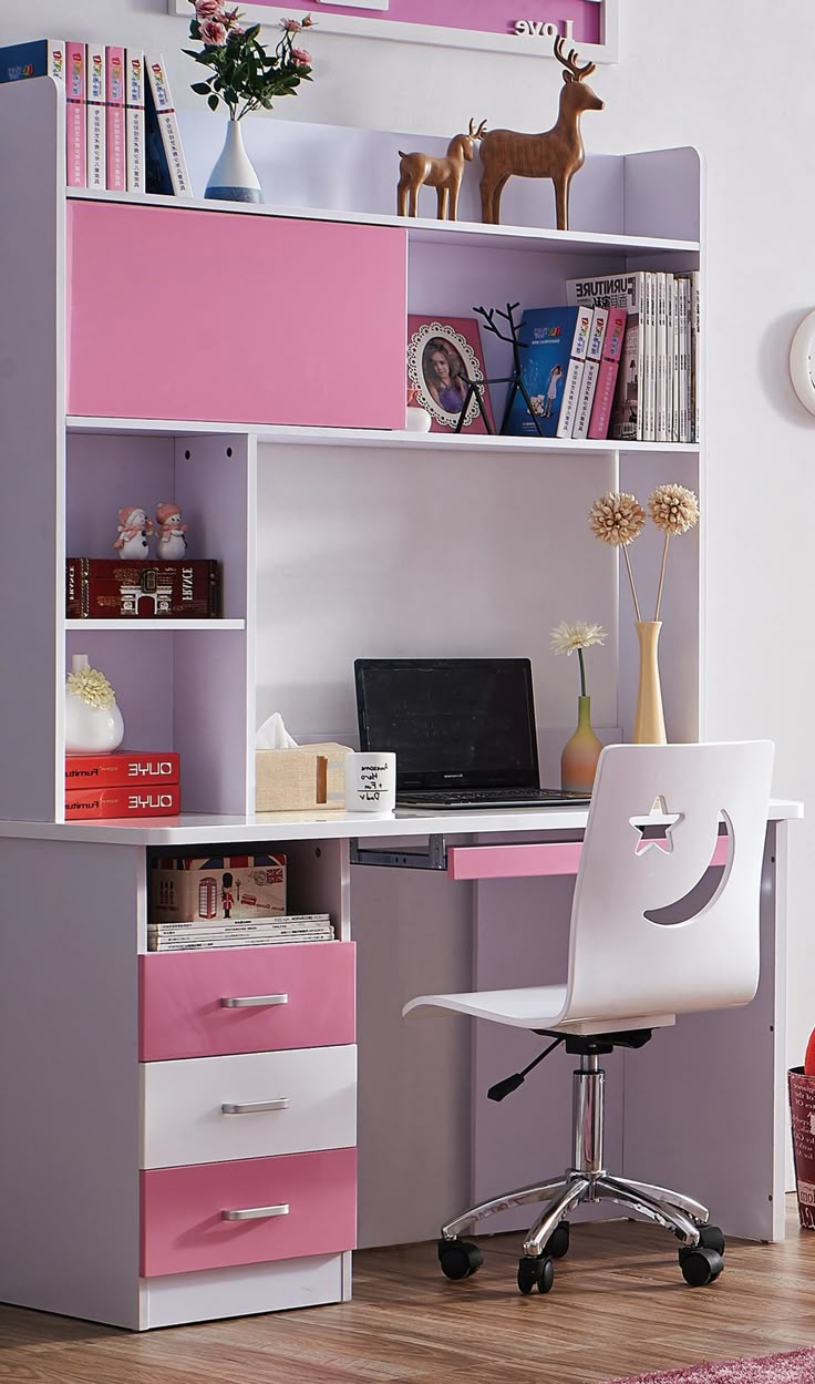
[[[689, 1289], [664, 1232], [576, 1226], [547, 1297], [515, 1286], [520, 1237], [484, 1237], [450, 1283], [434, 1246], [367, 1250], [354, 1301], [131, 1334], [0, 1306], [0, 1380], [14, 1384], [591, 1384], [704, 1359], [815, 1345], [815, 1230], [794, 1197], [780, 1244], [731, 1240]], [[1, 1253], [1, 1247], [0, 1247]]]

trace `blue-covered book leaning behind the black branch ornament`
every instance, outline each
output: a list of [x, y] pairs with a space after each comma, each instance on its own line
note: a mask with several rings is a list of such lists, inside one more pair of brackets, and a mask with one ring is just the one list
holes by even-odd
[[[534, 418], [516, 390], [505, 432], [520, 437], [569, 437], [577, 408], [592, 313], [587, 307], [530, 307], [519, 331], [520, 376]], [[540, 428], [535, 425], [540, 425]]]

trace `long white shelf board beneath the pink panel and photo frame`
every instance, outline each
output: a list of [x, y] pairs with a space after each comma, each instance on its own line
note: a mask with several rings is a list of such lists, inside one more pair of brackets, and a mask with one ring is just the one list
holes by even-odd
[[68, 418], [66, 428], [71, 433], [107, 433], [109, 436], [141, 436], [141, 437], [195, 437], [201, 433], [214, 433], [219, 436], [241, 435], [256, 436], [257, 441], [293, 443], [300, 446], [329, 446], [329, 447], [410, 447], [419, 451], [437, 451], [439, 448], [455, 448], [506, 453], [506, 451], [542, 451], [558, 455], [574, 455], [580, 453], [624, 451], [624, 453], [685, 453], [695, 455], [699, 451], [697, 443], [679, 441], [617, 441], [613, 437], [599, 440], [574, 441], [560, 437], [501, 437], [498, 435], [457, 435], [457, 433], [414, 433], [414, 432], [385, 432], [376, 428], [295, 428], [271, 424], [191, 424], [173, 418]]

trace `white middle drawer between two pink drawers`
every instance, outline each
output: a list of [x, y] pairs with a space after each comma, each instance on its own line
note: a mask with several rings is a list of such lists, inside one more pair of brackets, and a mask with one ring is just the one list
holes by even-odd
[[141, 1168], [357, 1142], [357, 1049], [295, 1048], [141, 1064]]

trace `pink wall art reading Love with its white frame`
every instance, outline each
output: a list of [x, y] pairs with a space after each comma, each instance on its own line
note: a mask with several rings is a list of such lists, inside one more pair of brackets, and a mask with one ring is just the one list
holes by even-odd
[[[167, 0], [170, 14], [192, 12], [190, 0]], [[552, 39], [563, 35], [581, 60], [617, 61], [620, 0], [314, 0], [307, 8], [281, 7], [277, 0], [250, 0], [239, 8], [253, 24], [277, 25], [282, 18], [311, 14], [327, 33], [360, 33], [405, 43], [450, 48], [526, 53], [552, 57]]]

